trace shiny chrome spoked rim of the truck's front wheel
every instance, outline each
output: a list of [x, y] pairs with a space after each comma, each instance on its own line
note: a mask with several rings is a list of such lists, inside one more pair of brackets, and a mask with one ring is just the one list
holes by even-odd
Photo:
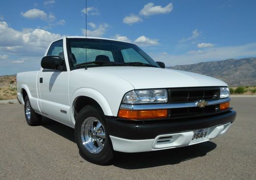
[[86, 118], [81, 126], [82, 144], [94, 154], [102, 151], [105, 145], [105, 130], [101, 122], [95, 117]]

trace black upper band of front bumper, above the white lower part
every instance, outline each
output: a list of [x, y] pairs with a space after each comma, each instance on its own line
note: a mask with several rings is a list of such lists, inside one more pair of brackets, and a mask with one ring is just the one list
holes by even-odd
[[106, 117], [106, 125], [109, 134], [118, 138], [130, 140], [154, 139], [159, 134], [175, 133], [189, 130], [196, 130], [212, 126], [218, 126], [233, 122], [236, 118], [236, 111], [230, 110], [218, 116], [198, 118], [196, 120], [182, 119], [180, 121], [156, 120], [154, 123], [124, 122], [114, 117]]

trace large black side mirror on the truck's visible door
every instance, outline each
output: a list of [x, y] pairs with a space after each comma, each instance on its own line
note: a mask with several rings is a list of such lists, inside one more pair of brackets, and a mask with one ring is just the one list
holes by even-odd
[[45, 56], [41, 60], [41, 67], [50, 70], [60, 70], [63, 69], [64, 60], [59, 56]]

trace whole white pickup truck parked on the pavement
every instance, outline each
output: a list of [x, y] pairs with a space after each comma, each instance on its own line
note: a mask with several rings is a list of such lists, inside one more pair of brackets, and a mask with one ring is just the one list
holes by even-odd
[[17, 74], [17, 99], [29, 125], [45, 116], [74, 128], [95, 164], [114, 151], [189, 146], [227, 132], [236, 117], [227, 84], [164, 68], [133, 43], [65, 37], [50, 44], [39, 71]]

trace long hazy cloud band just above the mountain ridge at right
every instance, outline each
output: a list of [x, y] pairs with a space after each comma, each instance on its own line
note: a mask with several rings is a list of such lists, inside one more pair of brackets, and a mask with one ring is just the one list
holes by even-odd
[[241, 46], [212, 47], [207, 48], [203, 53], [190, 53], [172, 55], [166, 53], [151, 53], [156, 61], [163, 61], [166, 66], [193, 64], [198, 62], [225, 60], [229, 58], [244, 58], [256, 56], [256, 42]]

